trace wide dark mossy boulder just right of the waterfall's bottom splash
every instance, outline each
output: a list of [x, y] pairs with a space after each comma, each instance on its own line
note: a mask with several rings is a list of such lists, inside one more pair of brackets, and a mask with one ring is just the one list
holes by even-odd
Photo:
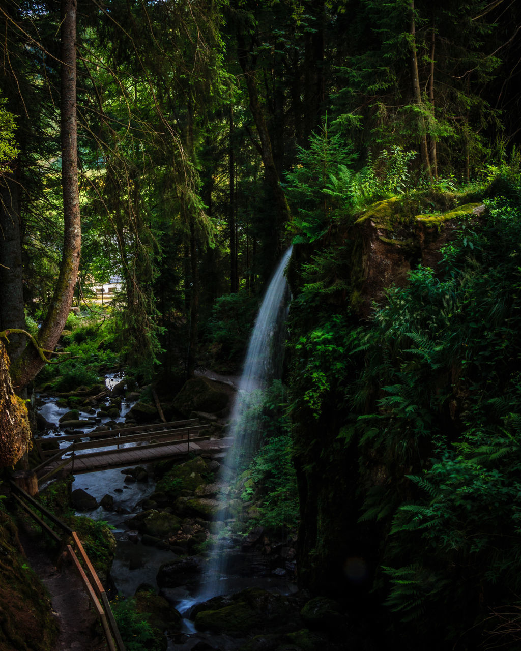
[[[195, 616], [195, 628], [229, 635], [244, 635], [252, 631], [287, 624], [292, 607], [286, 596], [272, 594], [259, 588], [248, 588], [231, 597], [231, 603], [219, 609], [208, 602], [210, 609], [200, 609]], [[204, 606], [204, 605], [203, 605]]]

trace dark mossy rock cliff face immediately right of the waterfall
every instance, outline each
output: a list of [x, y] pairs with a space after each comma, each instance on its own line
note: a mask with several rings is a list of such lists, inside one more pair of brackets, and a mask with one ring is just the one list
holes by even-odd
[[[436, 271], [440, 249], [462, 223], [479, 220], [483, 209], [456, 195], [395, 197], [374, 204], [354, 223], [337, 224], [322, 242], [322, 253], [311, 245], [295, 247], [289, 270], [294, 300], [288, 383], [302, 517], [302, 587], [353, 602], [369, 594], [389, 525], [385, 519], [359, 521], [367, 493], [389, 483], [389, 467], [378, 450], [362, 456], [346, 434], [356, 417], [343, 387], [361, 359], [346, 360], [344, 344], [369, 325], [387, 288], [405, 286], [420, 264]], [[392, 481], [407, 471], [397, 469]]]

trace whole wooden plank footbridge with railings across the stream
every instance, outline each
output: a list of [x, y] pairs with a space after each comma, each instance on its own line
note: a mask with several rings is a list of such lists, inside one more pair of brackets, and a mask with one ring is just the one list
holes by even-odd
[[[231, 439], [212, 439], [209, 434], [205, 434], [210, 427], [211, 425], [201, 425], [198, 419], [190, 419], [107, 432], [36, 438], [35, 444], [42, 463], [33, 468], [33, 472], [40, 484], [59, 471], [75, 475], [92, 473], [148, 464], [167, 457], [182, 458], [190, 452], [206, 452], [214, 458], [222, 457], [230, 447]], [[83, 440], [86, 438], [89, 441]], [[58, 444], [67, 441], [70, 445], [60, 450], [46, 450], [42, 444], [48, 441], [57, 441]]]

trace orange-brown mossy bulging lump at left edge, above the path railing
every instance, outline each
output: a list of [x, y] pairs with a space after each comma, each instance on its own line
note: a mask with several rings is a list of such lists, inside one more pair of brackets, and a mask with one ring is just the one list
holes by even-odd
[[31, 449], [31, 427], [25, 402], [15, 395], [9, 358], [0, 341], [0, 467], [16, 464]]

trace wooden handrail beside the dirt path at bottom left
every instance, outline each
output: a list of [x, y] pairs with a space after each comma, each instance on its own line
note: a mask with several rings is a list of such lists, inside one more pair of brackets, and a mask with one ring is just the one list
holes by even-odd
[[[102, 624], [109, 651], [125, 651], [125, 646], [121, 639], [105, 589], [96, 574], [96, 570], [94, 570], [85, 549], [83, 549], [83, 545], [81, 544], [81, 540], [79, 540], [76, 531], [72, 531], [68, 525], [58, 519], [13, 481], [10, 481], [10, 486], [11, 497], [16, 501], [16, 503], [18, 503], [31, 516], [31, 518], [33, 518], [36, 523], [38, 523], [38, 525], [40, 525], [40, 527], [42, 527], [51, 538], [53, 538], [53, 540], [61, 543], [62, 549], [66, 549], [68, 556], [72, 560], [79, 576], [81, 577], [83, 587], [89, 595], [94, 611]], [[40, 516], [35, 513], [35, 508], [40, 511]], [[49, 527], [43, 519], [44, 516], [49, 519], [55, 527], [61, 529], [64, 535], [60, 536]], [[75, 547], [76, 550], [74, 549]], [[81, 565], [78, 556], [81, 561], [83, 561], [85, 569]]]

